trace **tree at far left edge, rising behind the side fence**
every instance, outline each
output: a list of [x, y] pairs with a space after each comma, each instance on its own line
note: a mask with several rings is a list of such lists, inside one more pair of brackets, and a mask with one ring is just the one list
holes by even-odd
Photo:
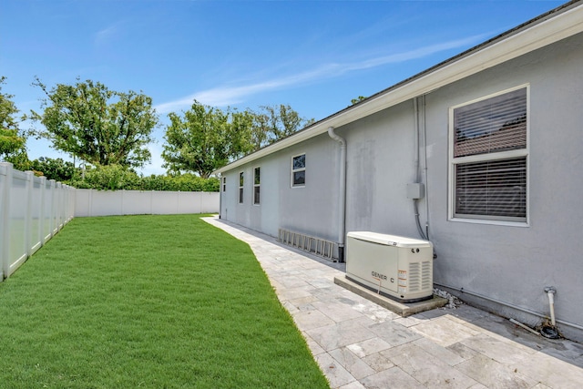
[[[5, 77], [0, 77], [0, 160], [20, 165], [27, 161], [26, 138], [18, 128], [18, 109], [12, 101], [13, 95], [2, 93]], [[19, 167], [17, 167], [18, 169]]]

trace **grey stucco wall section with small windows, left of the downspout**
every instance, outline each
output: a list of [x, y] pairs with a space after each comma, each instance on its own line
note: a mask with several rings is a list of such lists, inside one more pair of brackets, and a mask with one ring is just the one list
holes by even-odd
[[[292, 158], [306, 155], [306, 184], [292, 188]], [[336, 241], [338, 225], [338, 146], [327, 135], [286, 148], [223, 174], [220, 217], [276, 237], [294, 230]], [[253, 205], [253, 169], [261, 167], [261, 204]], [[239, 203], [239, 173], [244, 199]]]

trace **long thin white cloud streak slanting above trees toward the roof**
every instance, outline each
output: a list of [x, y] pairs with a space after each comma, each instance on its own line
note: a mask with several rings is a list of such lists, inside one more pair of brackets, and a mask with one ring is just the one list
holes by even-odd
[[485, 36], [486, 35], [469, 36], [464, 39], [457, 39], [432, 46], [424, 46], [414, 50], [395, 53], [389, 56], [379, 56], [360, 62], [326, 64], [311, 71], [306, 71], [287, 77], [274, 78], [268, 81], [258, 82], [250, 85], [243, 85], [239, 87], [214, 87], [194, 93], [187, 97], [180, 97], [179, 99], [159, 104], [155, 108], [159, 113], [162, 114], [175, 112], [177, 110], [190, 107], [193, 100], [195, 99], [202, 104], [212, 107], [225, 107], [228, 105], [240, 103], [244, 101], [245, 97], [269, 90], [297, 86], [299, 84], [314, 82], [322, 78], [339, 77], [347, 72], [355, 70], [369, 69], [372, 67], [381, 67], [388, 64], [406, 62], [412, 59], [430, 56], [440, 51], [474, 45], [476, 42], [483, 40]]

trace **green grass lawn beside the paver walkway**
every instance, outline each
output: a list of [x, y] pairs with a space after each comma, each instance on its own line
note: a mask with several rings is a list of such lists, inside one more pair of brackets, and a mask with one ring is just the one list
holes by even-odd
[[246, 243], [198, 216], [77, 218], [0, 283], [3, 388], [325, 388]]

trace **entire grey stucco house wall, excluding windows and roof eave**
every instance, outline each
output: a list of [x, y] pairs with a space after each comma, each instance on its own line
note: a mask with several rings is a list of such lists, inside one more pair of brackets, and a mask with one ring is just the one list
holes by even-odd
[[[544, 288], [554, 286], [559, 330], [583, 341], [582, 66], [578, 34], [427, 94], [419, 117], [424, 133], [416, 130], [412, 100], [336, 128], [347, 141], [346, 231], [419, 237], [406, 185], [416, 180], [416, 138], [423, 144], [426, 134], [426, 148], [420, 148], [422, 171], [427, 161], [426, 195], [418, 209], [437, 254], [437, 286], [530, 325], [548, 314]], [[529, 107], [527, 223], [450, 220], [450, 107], [523, 85]], [[302, 152], [306, 187], [291, 189], [291, 159]], [[336, 241], [338, 153], [338, 144], [321, 135], [227, 171], [221, 217], [272, 236], [281, 227]], [[261, 206], [250, 205], [251, 198], [237, 204], [239, 171], [249, 177], [245, 193], [251, 196], [252, 169], [260, 165]]]

